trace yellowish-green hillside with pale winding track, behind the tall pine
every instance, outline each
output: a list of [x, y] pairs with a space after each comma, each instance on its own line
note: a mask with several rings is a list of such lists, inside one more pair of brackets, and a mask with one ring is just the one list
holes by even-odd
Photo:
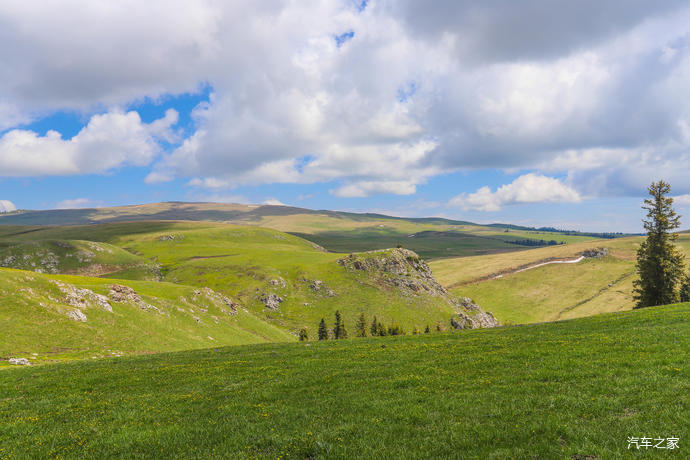
[[[466, 295], [501, 322], [531, 323], [629, 310], [633, 307], [636, 250], [641, 237], [597, 240], [511, 254], [432, 262], [436, 278], [457, 295]], [[678, 246], [690, 264], [690, 235]], [[577, 264], [553, 264], [511, 271], [545, 260], [567, 259], [585, 249], [605, 247], [609, 255]], [[503, 273], [500, 278], [491, 275]]]

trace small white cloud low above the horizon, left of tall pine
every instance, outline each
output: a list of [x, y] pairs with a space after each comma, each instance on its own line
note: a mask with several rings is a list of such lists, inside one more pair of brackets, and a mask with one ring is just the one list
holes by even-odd
[[492, 192], [482, 187], [471, 194], [461, 194], [450, 200], [451, 206], [465, 210], [499, 211], [503, 206], [524, 203], [576, 203], [580, 194], [558, 179], [539, 174], [525, 174], [512, 183]]

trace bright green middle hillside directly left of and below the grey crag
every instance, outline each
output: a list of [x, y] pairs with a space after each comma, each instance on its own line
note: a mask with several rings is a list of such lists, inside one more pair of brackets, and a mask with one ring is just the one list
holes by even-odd
[[[166, 235], [174, 239], [161, 241]], [[336, 310], [343, 312], [351, 330], [364, 312], [369, 319], [396, 322], [408, 332], [438, 321], [446, 324], [454, 311], [443, 299], [406, 295], [350, 273], [337, 263], [345, 254], [327, 253], [311, 242], [265, 228], [168, 229], [165, 234], [122, 236], [117, 244], [156, 260], [168, 281], [230, 294], [262, 318], [295, 331], [307, 327], [312, 336], [319, 320], [330, 323]], [[275, 310], [262, 301], [271, 294], [283, 299]]]

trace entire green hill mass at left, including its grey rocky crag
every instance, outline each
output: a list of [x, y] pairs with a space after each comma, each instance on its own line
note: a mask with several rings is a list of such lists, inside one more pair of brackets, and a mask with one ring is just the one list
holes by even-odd
[[[8, 295], [0, 324], [5, 358], [291, 341], [302, 328], [315, 337], [320, 319], [330, 324], [338, 310], [351, 334], [362, 313], [407, 333], [450, 328], [451, 318], [462, 327], [495, 324], [438, 285], [404, 249], [337, 254], [276, 230], [212, 222], [0, 228], [0, 262], [46, 272], [0, 268], [0, 290]], [[152, 308], [113, 303], [115, 285], [133, 289]], [[99, 308], [102, 296], [108, 311]], [[232, 299], [237, 314], [220, 312], [227, 305], [218, 298]]]

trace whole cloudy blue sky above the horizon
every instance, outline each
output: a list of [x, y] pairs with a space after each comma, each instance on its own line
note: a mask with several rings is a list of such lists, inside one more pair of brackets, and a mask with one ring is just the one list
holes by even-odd
[[0, 212], [218, 201], [690, 228], [690, 5], [0, 3]]

